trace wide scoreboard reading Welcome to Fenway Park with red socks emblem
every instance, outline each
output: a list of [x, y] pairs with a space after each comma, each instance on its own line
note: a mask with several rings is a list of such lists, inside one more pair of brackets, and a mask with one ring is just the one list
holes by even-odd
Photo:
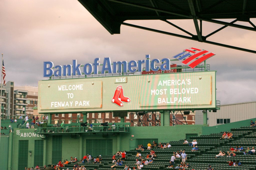
[[216, 108], [215, 71], [42, 80], [38, 112]]

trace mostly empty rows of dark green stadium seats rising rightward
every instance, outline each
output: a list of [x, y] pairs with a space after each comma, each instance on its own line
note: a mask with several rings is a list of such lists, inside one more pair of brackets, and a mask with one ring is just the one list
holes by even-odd
[[[256, 155], [244, 155], [243, 152], [236, 152], [236, 156], [234, 157], [227, 157], [222, 156], [215, 158], [215, 155], [219, 153], [219, 151], [229, 151], [230, 146], [235, 148], [236, 146], [241, 145], [244, 150], [249, 147], [250, 149], [252, 146], [255, 147], [256, 145], [256, 128], [255, 127], [241, 127], [241, 128], [234, 128], [231, 129], [234, 137], [233, 139], [220, 139], [223, 132], [220, 133], [213, 133], [210, 135], [201, 135], [198, 137], [190, 137], [190, 141], [196, 139], [198, 144], [199, 151], [192, 152], [192, 147], [188, 146], [188, 144], [183, 144], [183, 140], [179, 141], [170, 141], [170, 142], [163, 142], [163, 143], [170, 143], [172, 145], [171, 148], [160, 149], [160, 148], [153, 148], [157, 157], [153, 160], [152, 164], [145, 165], [142, 169], [145, 170], [157, 170], [157, 169], [172, 169], [167, 168], [169, 165], [170, 157], [174, 152], [179, 150], [186, 151], [187, 154], [187, 163], [189, 163], [189, 168], [194, 170], [203, 170], [207, 169], [208, 165], [210, 164], [215, 170], [225, 169], [225, 170], [255, 170], [256, 168]], [[122, 166], [115, 166], [113, 167], [116, 169], [124, 169], [124, 166], [130, 166], [131, 168], [136, 167], [136, 155], [137, 150], [131, 150], [126, 152], [126, 160]], [[148, 150], [140, 152], [142, 157], [146, 157], [146, 154], [149, 153]], [[119, 157], [116, 156], [116, 159]], [[101, 164], [93, 164], [92, 162], [86, 164], [78, 164], [79, 166], [84, 165], [86, 169], [97, 169], [97, 170], [110, 170], [112, 164], [112, 155], [104, 155], [102, 156], [102, 163]], [[242, 166], [229, 166], [227, 161], [236, 160], [240, 161]], [[175, 166], [179, 165], [181, 159], [177, 159], [175, 161]], [[69, 164], [65, 167], [72, 169], [74, 163]], [[137, 169], [137, 167], [136, 167]]]

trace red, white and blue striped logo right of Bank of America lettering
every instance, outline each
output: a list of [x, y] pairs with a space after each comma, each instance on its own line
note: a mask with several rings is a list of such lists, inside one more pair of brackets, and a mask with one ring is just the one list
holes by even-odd
[[173, 56], [173, 58], [178, 60], [185, 59], [182, 61], [183, 64], [188, 64], [190, 68], [195, 68], [197, 65], [214, 55], [214, 53], [211, 53], [207, 50], [200, 50], [198, 48], [191, 47], [189, 49], [185, 49], [182, 53]]

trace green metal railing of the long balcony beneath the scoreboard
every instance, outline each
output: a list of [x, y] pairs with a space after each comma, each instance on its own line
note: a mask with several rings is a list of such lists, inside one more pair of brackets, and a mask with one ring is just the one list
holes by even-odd
[[120, 133], [130, 132], [130, 126], [93, 126], [93, 127], [38, 127], [34, 133], [56, 134], [56, 133]]

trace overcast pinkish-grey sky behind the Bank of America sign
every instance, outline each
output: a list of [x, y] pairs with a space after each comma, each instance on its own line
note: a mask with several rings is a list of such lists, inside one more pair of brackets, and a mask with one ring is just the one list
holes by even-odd
[[[38, 80], [44, 79], [44, 61], [62, 65], [77, 59], [85, 64], [95, 57], [138, 60], [145, 54], [161, 59], [196, 47], [216, 54], [207, 64], [217, 70], [221, 104], [256, 101], [256, 54], [128, 26], [121, 26], [121, 34], [111, 35], [76, 0], [1, 0], [0, 6], [0, 53], [4, 53], [6, 81], [14, 81], [15, 86], [38, 86]], [[256, 24], [256, 19], [251, 21]], [[183, 34], [163, 21], [126, 22]], [[192, 20], [172, 22], [196, 34]], [[203, 35], [220, 27], [203, 22]], [[256, 50], [255, 39], [254, 31], [227, 27], [207, 40]]]

